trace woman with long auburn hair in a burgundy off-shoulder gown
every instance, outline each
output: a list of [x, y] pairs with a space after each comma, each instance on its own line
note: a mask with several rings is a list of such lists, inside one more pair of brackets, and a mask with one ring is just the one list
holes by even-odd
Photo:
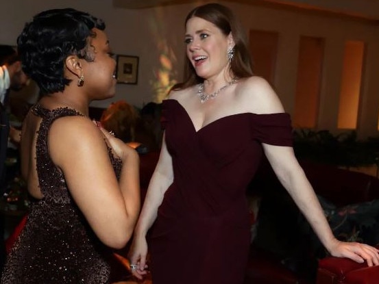
[[247, 40], [217, 3], [185, 21], [188, 78], [162, 103], [164, 140], [130, 250], [134, 275], [154, 284], [241, 284], [250, 245], [245, 190], [265, 154], [315, 233], [336, 257], [378, 265], [376, 248], [340, 242], [292, 148], [289, 114], [252, 73]]

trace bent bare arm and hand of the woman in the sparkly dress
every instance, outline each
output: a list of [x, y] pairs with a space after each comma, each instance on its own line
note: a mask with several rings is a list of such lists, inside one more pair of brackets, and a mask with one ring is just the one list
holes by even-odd
[[110, 162], [106, 138], [88, 118], [69, 116], [53, 122], [49, 153], [97, 237], [107, 246], [122, 248], [138, 218], [138, 154], [109, 136], [112, 151], [123, 163], [120, 181]]

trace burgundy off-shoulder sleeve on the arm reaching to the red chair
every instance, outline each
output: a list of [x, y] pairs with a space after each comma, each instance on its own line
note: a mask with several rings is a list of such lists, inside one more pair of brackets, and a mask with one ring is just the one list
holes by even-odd
[[293, 146], [289, 114], [257, 114], [252, 121], [252, 127], [259, 142], [276, 146]]

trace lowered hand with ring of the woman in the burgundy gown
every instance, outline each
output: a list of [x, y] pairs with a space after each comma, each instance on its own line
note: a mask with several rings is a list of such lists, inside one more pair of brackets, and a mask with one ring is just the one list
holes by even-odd
[[136, 235], [134, 235], [127, 258], [130, 261], [130, 271], [140, 280], [142, 280], [143, 276], [147, 274], [146, 257], [146, 237], [136, 237]]

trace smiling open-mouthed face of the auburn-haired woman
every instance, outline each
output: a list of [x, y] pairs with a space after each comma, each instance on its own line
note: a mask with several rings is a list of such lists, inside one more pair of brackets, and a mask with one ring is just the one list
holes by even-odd
[[199, 77], [209, 79], [229, 70], [227, 50], [234, 47], [232, 35], [216, 25], [193, 17], [186, 23], [186, 53]]

